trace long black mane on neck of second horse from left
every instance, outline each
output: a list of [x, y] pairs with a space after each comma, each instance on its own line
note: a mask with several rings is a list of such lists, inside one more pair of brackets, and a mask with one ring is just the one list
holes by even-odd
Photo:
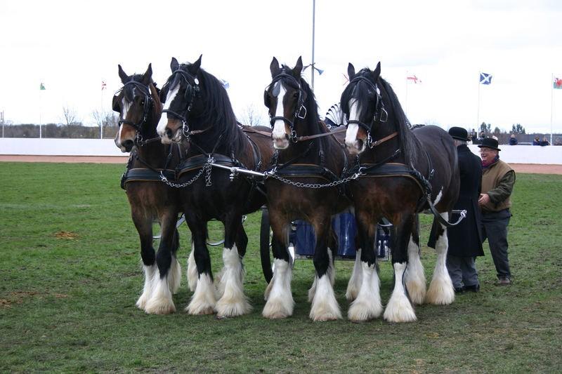
[[[182, 64], [181, 68], [188, 71], [188, 66]], [[201, 100], [204, 102], [204, 110], [197, 119], [203, 123], [203, 126], [211, 125], [211, 131], [216, 135], [216, 137], [205, 135], [205, 138], [214, 142], [222, 134], [221, 145], [226, 147], [227, 155], [236, 154], [240, 149], [244, 149], [245, 135], [237, 125], [238, 121], [223, 83], [201, 68], [197, 72], [197, 78], [200, 79]]]

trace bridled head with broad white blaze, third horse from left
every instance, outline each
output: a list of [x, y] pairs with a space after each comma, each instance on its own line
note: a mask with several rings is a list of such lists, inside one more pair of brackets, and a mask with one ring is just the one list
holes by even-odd
[[[295, 141], [297, 122], [309, 119], [318, 123], [318, 118], [313, 119], [312, 113], [307, 118], [314, 95], [306, 81], [301, 78], [302, 58], [296, 60], [293, 68], [287, 65], [280, 67], [277, 58], [273, 58], [269, 68], [273, 80], [263, 93], [263, 102], [269, 109], [270, 123], [273, 127], [273, 147], [287, 149], [290, 141]], [[315, 101], [313, 102], [315, 105]]]

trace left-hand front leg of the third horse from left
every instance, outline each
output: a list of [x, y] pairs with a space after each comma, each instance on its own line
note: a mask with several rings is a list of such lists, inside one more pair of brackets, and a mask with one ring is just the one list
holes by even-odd
[[291, 293], [292, 267], [287, 251], [289, 225], [284, 222], [282, 215], [270, 211], [270, 222], [273, 229], [273, 263], [275, 272], [266, 289], [266, 305], [261, 314], [269, 319], [280, 319], [292, 316], [294, 300]]

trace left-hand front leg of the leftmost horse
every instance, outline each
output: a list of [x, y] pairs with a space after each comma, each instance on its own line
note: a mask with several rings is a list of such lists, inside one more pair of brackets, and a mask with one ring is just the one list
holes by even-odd
[[[141, 217], [142, 216], [142, 217]], [[152, 294], [152, 280], [156, 273], [156, 253], [152, 248], [152, 220], [143, 215], [133, 213], [133, 222], [141, 239], [141, 258], [143, 260], [143, 272], [145, 276], [143, 293], [138, 298], [136, 306], [138, 309], [145, 309], [146, 302]]]

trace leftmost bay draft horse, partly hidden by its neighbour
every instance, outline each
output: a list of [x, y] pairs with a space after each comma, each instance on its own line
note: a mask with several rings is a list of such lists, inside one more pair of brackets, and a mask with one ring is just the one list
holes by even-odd
[[[152, 66], [148, 65], [144, 74], [129, 76], [119, 65], [119, 78], [123, 87], [113, 97], [113, 110], [119, 112], [115, 145], [122, 152], [131, 152], [122, 187], [141, 239], [145, 276], [143, 293], [136, 305], [147, 313], [168, 314], [176, 310], [171, 294], [178, 290], [181, 281], [181, 267], [176, 259], [179, 196], [178, 191], [160, 181], [159, 172], [172, 173], [182, 150], [159, 142], [156, 125], [162, 114], [162, 103], [152, 81]], [[162, 228], [157, 254], [152, 247], [154, 221]], [[158, 279], [166, 281], [162, 283]]]

